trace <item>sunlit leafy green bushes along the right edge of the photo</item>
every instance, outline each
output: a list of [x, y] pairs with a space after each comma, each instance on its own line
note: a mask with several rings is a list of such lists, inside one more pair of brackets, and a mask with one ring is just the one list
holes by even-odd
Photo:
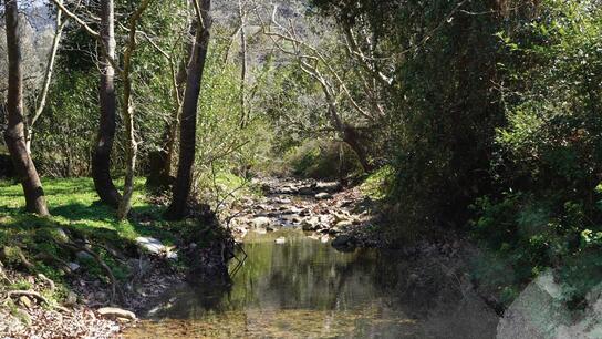
[[512, 284], [556, 269], [570, 300], [602, 278], [602, 20], [591, 1], [544, 1], [501, 40], [507, 125], [492, 167], [504, 194], [481, 198], [476, 238], [513, 266]]

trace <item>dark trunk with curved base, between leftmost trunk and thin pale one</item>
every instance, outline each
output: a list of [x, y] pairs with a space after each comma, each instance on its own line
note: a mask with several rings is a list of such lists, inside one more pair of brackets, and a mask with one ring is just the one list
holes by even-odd
[[111, 178], [111, 150], [116, 130], [115, 69], [110, 59], [115, 59], [115, 21], [113, 0], [101, 1], [101, 124], [92, 155], [92, 177], [98, 197], [112, 207], [120, 205], [121, 196]]

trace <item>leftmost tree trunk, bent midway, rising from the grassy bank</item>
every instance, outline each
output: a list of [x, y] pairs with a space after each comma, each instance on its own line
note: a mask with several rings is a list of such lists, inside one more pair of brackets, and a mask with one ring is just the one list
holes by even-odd
[[4, 140], [17, 175], [23, 186], [27, 210], [39, 215], [49, 215], [42, 183], [25, 146], [19, 6], [17, 0], [4, 0], [4, 4], [9, 60], [8, 126]]

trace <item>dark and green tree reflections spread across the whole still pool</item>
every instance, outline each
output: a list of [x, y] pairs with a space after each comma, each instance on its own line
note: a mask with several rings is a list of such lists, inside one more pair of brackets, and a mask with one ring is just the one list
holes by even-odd
[[[478, 298], [465, 296], [434, 260], [404, 260], [396, 251], [339, 253], [301, 233], [287, 234], [287, 240], [247, 244], [249, 257], [231, 289], [200, 284], [180, 290], [163, 316], [242, 329], [262, 321], [305, 321], [303, 326], [318, 328], [349, 323], [355, 335], [369, 336], [402, 328], [395, 321], [411, 315], [418, 320], [411, 327], [423, 337], [495, 332], [497, 319], [479, 308]], [[409, 284], [417, 271], [423, 275]], [[283, 316], [295, 312], [299, 319]]]

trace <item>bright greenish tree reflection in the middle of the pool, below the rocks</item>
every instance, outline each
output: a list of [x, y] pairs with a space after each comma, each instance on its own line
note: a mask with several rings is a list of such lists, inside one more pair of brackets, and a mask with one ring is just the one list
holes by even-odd
[[[341, 254], [319, 242], [292, 238], [287, 246], [253, 244], [248, 265], [235, 277], [233, 304], [267, 309], [333, 309], [342, 287], [370, 290], [370, 266], [356, 254]], [[370, 291], [369, 291], [370, 294]], [[347, 292], [349, 295], [349, 292]], [[241, 305], [235, 305], [235, 308]]]

